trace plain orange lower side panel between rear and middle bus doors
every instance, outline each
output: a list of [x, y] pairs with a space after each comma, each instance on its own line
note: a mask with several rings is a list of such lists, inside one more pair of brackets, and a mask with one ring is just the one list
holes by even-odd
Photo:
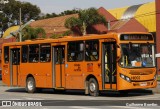
[[21, 64], [21, 86], [25, 86], [27, 76], [31, 74], [36, 82], [36, 87], [52, 87], [51, 63], [24, 63]]

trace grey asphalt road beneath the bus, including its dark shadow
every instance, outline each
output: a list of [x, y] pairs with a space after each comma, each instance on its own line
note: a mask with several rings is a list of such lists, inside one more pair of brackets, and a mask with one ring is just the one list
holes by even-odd
[[[1, 83], [0, 83], [1, 84]], [[19, 87], [7, 87], [3, 84], [0, 85], [0, 105], [2, 101], [11, 101], [12, 106], [15, 109], [21, 109], [22, 103], [28, 105], [28, 103], [37, 102], [37, 106], [42, 107], [23, 107], [33, 109], [135, 109], [138, 106], [139, 109], [158, 109], [160, 106], [160, 94], [152, 93], [152, 90], [137, 90], [129, 93], [128, 95], [120, 95], [118, 92], [107, 91], [102, 92], [98, 97], [92, 97], [84, 95], [83, 91], [66, 91], [66, 92], [54, 92], [52, 89], [44, 89], [39, 93], [28, 94], [24, 88]], [[18, 102], [20, 106], [18, 105]], [[17, 103], [17, 104], [16, 104]], [[25, 104], [26, 103], [26, 104]], [[38, 104], [39, 103], [39, 104]], [[41, 104], [40, 104], [41, 103]], [[145, 104], [146, 103], [146, 104]], [[153, 104], [152, 104], [153, 103]], [[147, 105], [147, 106], [144, 106]], [[148, 106], [152, 105], [152, 106]], [[4, 108], [4, 107], [0, 107]], [[11, 108], [11, 107], [5, 107]]]

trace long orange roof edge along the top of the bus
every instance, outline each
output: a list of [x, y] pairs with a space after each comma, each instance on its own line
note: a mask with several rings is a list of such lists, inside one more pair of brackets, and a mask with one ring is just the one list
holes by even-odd
[[86, 36], [64, 36], [62, 38], [57, 38], [57, 39], [43, 39], [43, 38], [38, 38], [35, 40], [25, 40], [23, 42], [11, 42], [11, 43], [4, 43], [3, 45], [24, 45], [24, 44], [39, 44], [39, 43], [59, 43], [59, 42], [70, 42], [70, 41], [80, 41], [80, 40], [91, 40], [91, 39], [115, 39], [119, 40], [119, 34], [150, 34], [146, 32], [125, 32], [125, 33], [108, 33], [108, 34], [90, 34]]

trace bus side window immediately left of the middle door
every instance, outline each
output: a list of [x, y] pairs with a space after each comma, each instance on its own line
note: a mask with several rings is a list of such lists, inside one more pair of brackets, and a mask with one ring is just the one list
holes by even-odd
[[40, 46], [40, 62], [50, 62], [51, 61], [51, 45], [42, 44]]

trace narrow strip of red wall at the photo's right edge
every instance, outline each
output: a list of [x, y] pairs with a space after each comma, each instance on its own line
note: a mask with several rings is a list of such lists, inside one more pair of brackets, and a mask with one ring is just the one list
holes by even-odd
[[[156, 1], [156, 47], [157, 53], [160, 53], [160, 0]], [[160, 58], [157, 58], [157, 71], [160, 74]]]

